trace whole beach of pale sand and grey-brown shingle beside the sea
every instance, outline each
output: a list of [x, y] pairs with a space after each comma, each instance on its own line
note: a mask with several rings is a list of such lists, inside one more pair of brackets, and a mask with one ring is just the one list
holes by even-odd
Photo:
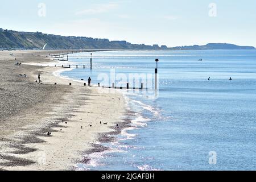
[[[55, 52], [0, 52], [1, 170], [76, 170], [90, 160], [84, 154], [106, 149], [96, 143], [129, 122], [121, 93], [54, 74], [65, 68], [39, 66], [51, 61], [42, 55]], [[35, 82], [38, 73], [43, 84]]]

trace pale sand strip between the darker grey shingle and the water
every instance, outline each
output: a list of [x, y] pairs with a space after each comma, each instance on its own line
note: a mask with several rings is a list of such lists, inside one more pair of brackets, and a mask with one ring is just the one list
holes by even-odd
[[[23, 55], [24, 52], [20, 52]], [[34, 59], [37, 60], [36, 57]], [[49, 63], [47, 59], [43, 60]], [[23, 67], [26, 69], [28, 65], [24, 64]], [[63, 101], [53, 103], [46, 113], [41, 113], [40, 121], [24, 125], [6, 136], [6, 142], [1, 139], [4, 147], [0, 149], [0, 169], [74, 170], [74, 164], [84, 162], [81, 155], [84, 152], [106, 149], [95, 145], [96, 141], [110, 141], [113, 138], [108, 138], [109, 134], [120, 133], [129, 123], [121, 119], [127, 110], [125, 99], [120, 93], [101, 93], [98, 88], [82, 86], [81, 82], [73, 80], [72, 86], [69, 86], [70, 80], [53, 75], [63, 68], [29, 67], [34, 68], [31, 78], [36, 78], [38, 72], [42, 73], [43, 84], [38, 85], [64, 87], [64, 95], [61, 96]], [[57, 82], [57, 85], [54, 85], [54, 82]], [[35, 83], [30, 80], [30, 84]], [[100, 125], [100, 121], [108, 124]], [[118, 129], [115, 127], [116, 123], [119, 123]], [[51, 132], [51, 135], [47, 136], [48, 132]], [[11, 146], [10, 141], [13, 140], [22, 141], [22, 144], [18, 147], [15, 144]], [[19, 148], [19, 151], [16, 151], [15, 147]], [[3, 148], [5, 150], [2, 150]]]

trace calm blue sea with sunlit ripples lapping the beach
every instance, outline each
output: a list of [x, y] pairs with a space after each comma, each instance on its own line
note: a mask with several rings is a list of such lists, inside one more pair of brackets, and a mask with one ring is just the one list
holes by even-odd
[[[78, 168], [256, 169], [255, 50], [94, 52], [92, 72], [89, 58], [89, 53], [70, 55], [69, 63], [86, 69], [62, 75], [77, 80], [90, 76], [97, 84], [102, 81], [98, 75], [110, 75], [113, 68], [117, 74], [153, 74], [158, 58], [159, 97], [125, 93], [130, 109], [137, 111], [131, 127], [118, 135], [118, 142], [105, 144], [112, 150], [91, 154], [91, 162]], [[210, 151], [217, 154], [216, 164], [209, 163]]]

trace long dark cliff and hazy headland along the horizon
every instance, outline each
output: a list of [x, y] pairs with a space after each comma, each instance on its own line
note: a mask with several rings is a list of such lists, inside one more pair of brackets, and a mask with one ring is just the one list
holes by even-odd
[[77, 36], [60, 36], [42, 32], [18, 32], [0, 28], [0, 50], [6, 49], [147, 49], [147, 50], [210, 50], [210, 49], [255, 49], [252, 46], [237, 46], [227, 43], [209, 43], [204, 46], [167, 47], [157, 44], [131, 44], [109, 39], [94, 39]]

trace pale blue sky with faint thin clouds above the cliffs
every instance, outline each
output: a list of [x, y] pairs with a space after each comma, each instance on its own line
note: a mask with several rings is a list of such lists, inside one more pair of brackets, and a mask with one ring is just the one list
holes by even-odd
[[2, 1], [0, 27], [168, 47], [256, 47], [255, 0]]

